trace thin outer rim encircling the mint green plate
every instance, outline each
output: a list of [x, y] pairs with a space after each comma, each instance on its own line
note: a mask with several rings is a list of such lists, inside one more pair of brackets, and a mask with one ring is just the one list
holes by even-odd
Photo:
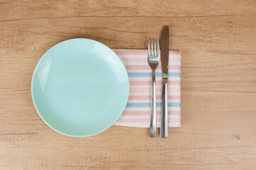
[[[55, 129], [54, 127], [52, 127], [52, 125], [49, 125], [47, 123], [46, 120], [43, 119], [43, 117], [41, 116], [41, 113], [39, 112], [36, 104], [35, 104], [35, 100], [34, 100], [34, 97], [33, 97], [33, 80], [35, 79], [35, 72], [37, 71], [38, 69], [38, 65], [40, 65], [40, 62], [43, 61], [43, 59], [45, 58], [45, 54], [51, 50], [53, 47], [55, 47], [56, 45], [59, 45], [60, 43], [62, 42], [66, 42], [66, 41], [72, 41], [72, 40], [89, 40], [89, 41], [93, 41], [93, 42], [96, 42], [96, 43], [99, 43], [101, 45], [103, 45], [104, 47], [106, 47], [108, 50], [111, 50], [113, 52], [113, 54], [116, 56], [117, 60], [119, 60], [121, 62], [121, 64], [123, 65], [123, 68], [125, 69], [126, 71], [126, 75], [127, 75], [127, 80], [128, 80], [128, 88], [127, 88], [127, 98], [126, 98], [126, 103], [124, 104], [123, 106], [123, 109], [122, 109], [122, 112], [120, 113], [120, 115], [117, 116], [117, 118], [113, 121], [113, 123], [111, 123], [111, 125], [108, 125], [106, 128], [104, 128], [103, 130], [99, 130], [99, 132], [94, 132], [94, 133], [90, 133], [89, 135], [72, 135], [72, 134], [69, 134], [69, 133], [66, 133], [66, 132], [61, 132], [60, 130], [57, 130]], [[104, 43], [102, 42], [99, 42], [99, 41], [96, 41], [96, 40], [92, 40], [92, 39], [89, 39], [89, 38], [71, 38], [71, 39], [68, 39], [68, 40], [64, 40], [64, 41], [61, 41], [61, 42], [58, 42], [57, 44], [53, 45], [52, 47], [50, 47], [43, 55], [42, 57], [40, 57], [40, 60], [38, 60], [37, 64], [35, 65], [35, 69], [33, 71], [33, 75], [32, 75], [32, 79], [31, 79], [31, 97], [32, 97], [32, 101], [33, 101], [33, 105], [35, 107], [35, 110], [36, 112], [38, 113], [38, 115], [40, 116], [40, 118], [43, 120], [43, 122], [48, 125], [48, 127], [50, 127], [52, 130], [55, 130], [55, 132], [58, 132], [62, 135], [65, 135], [65, 136], [69, 136], [69, 137], [90, 137], [90, 136], [94, 136], [94, 135], [97, 135], [101, 132], [104, 132], [105, 130], [107, 130], [108, 128], [110, 128], [114, 123], [116, 123], [116, 121], [121, 117], [121, 115], [123, 114], [123, 111], [125, 110], [126, 108], [126, 105], [128, 103], [128, 98], [129, 98], [129, 94], [130, 94], [130, 80], [129, 80], [129, 77], [128, 77], [128, 72], [127, 72], [127, 69], [126, 69], [126, 66], [125, 64], [123, 64], [122, 60], [120, 59], [120, 57], [118, 57], [118, 55], [116, 55], [116, 52], [114, 52], [110, 47], [108, 47], [107, 45], [104, 45]]]

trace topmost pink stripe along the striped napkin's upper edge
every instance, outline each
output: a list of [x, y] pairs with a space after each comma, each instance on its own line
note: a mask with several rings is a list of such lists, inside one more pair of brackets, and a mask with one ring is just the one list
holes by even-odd
[[[148, 50], [113, 50], [116, 52], [116, 55], [147, 55]], [[169, 55], [181, 55], [180, 51], [169, 51]]]

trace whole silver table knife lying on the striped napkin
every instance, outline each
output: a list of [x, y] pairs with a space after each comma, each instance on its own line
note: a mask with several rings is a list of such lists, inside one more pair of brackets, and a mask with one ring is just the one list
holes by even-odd
[[160, 37], [161, 64], [162, 64], [162, 110], [161, 110], [161, 126], [160, 137], [167, 137], [168, 120], [167, 120], [167, 82], [168, 82], [168, 62], [169, 62], [169, 27], [162, 29]]

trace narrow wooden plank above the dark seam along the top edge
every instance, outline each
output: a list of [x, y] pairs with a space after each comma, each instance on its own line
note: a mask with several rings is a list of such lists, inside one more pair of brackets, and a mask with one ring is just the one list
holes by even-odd
[[255, 13], [253, 0], [182, 1], [18, 1], [2, 0], [1, 21], [68, 17], [194, 17], [236, 16]]

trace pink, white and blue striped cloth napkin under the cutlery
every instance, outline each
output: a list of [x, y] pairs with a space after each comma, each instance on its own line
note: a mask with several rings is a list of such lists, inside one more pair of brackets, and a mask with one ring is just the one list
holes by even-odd
[[[130, 94], [125, 111], [114, 125], [149, 128], [151, 99], [151, 68], [148, 65], [148, 50], [113, 50], [125, 64], [130, 79]], [[168, 126], [179, 127], [180, 123], [180, 65], [181, 52], [169, 51], [168, 72]], [[160, 127], [162, 70], [156, 73], [157, 127]]]

